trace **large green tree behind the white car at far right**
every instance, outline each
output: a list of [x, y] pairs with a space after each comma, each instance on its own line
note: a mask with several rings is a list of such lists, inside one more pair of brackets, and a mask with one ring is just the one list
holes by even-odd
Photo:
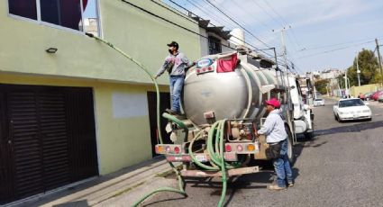
[[358, 85], [357, 61], [360, 68], [360, 85], [375, 84], [378, 82], [378, 58], [369, 49], [362, 49], [352, 66], [347, 68], [347, 76], [350, 78], [350, 85]]

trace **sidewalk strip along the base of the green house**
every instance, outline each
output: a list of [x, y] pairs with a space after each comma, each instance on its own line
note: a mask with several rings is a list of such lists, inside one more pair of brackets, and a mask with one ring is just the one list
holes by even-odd
[[[126, 193], [134, 194], [134, 201], [131, 201], [133, 203], [141, 195], [157, 188], [156, 185], [159, 185], [158, 187], [163, 187], [164, 184], [172, 185], [173, 181], [164, 178], [172, 172], [164, 157], [155, 157], [136, 166], [96, 177], [84, 184], [67, 187], [56, 193], [35, 196], [34, 199], [12, 206], [107, 206], [103, 203], [110, 203], [108, 200], [115, 200], [122, 194], [126, 196]], [[148, 186], [144, 187], [145, 185]], [[124, 206], [126, 204], [125, 202]]]

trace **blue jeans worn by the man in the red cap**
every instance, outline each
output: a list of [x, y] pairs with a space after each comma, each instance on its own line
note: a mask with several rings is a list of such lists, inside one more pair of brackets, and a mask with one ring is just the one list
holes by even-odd
[[273, 165], [277, 174], [278, 186], [286, 187], [286, 180], [288, 183], [293, 182], [293, 172], [287, 157], [287, 139], [283, 140], [281, 144], [280, 156], [273, 160]]

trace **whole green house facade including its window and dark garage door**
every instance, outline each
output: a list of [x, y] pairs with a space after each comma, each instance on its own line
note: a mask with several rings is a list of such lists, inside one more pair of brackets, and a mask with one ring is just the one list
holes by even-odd
[[[160, 1], [6, 0], [0, 8], [0, 203], [154, 156], [150, 77], [85, 32], [155, 74], [172, 40], [200, 57], [195, 20]], [[166, 108], [168, 76], [158, 82]]]

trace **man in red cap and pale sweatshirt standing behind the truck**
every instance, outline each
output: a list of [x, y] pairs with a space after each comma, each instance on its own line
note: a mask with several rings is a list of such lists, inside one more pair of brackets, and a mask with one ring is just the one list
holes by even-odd
[[[276, 98], [271, 98], [266, 102], [267, 112], [269, 112], [265, 123], [256, 131], [256, 135], [264, 134], [266, 142], [269, 144], [270, 153], [273, 159], [273, 166], [277, 174], [277, 180], [274, 184], [268, 186], [269, 190], [286, 189], [286, 181], [288, 187], [292, 187], [293, 173], [287, 157], [287, 132], [285, 122], [280, 115], [280, 103]], [[268, 152], [268, 151], [267, 151]]]

